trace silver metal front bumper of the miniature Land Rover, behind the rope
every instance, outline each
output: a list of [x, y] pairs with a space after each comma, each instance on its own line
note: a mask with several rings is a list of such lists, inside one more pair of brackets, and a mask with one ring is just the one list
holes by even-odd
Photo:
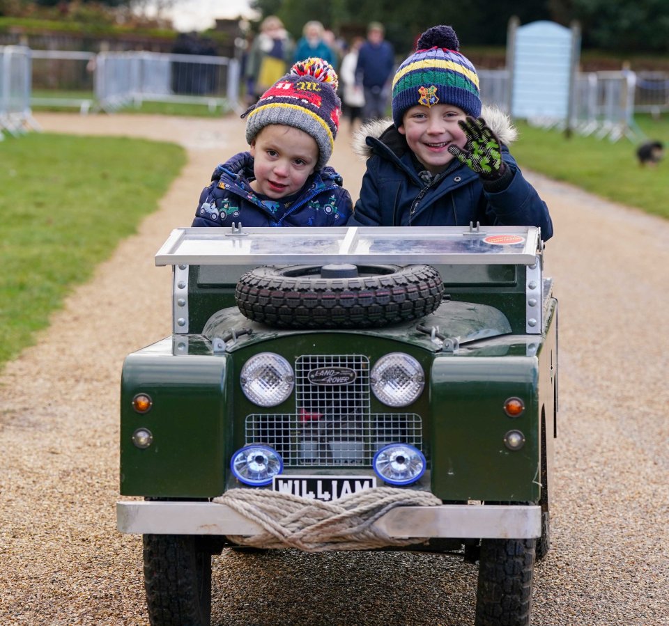
[[[257, 535], [259, 524], [213, 502], [116, 503], [121, 533]], [[393, 538], [525, 539], [541, 536], [540, 506], [443, 504], [398, 506], [374, 523]]]

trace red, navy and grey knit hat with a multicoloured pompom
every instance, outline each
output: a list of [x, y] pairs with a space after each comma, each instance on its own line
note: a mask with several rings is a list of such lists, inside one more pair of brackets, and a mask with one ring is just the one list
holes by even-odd
[[322, 169], [332, 156], [339, 130], [337, 86], [337, 72], [328, 61], [316, 56], [298, 61], [243, 114], [246, 140], [250, 144], [268, 124], [299, 128], [316, 140], [316, 169]]

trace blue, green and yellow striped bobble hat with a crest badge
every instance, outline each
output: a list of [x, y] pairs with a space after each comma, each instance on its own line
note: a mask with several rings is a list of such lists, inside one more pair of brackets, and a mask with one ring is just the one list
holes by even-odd
[[392, 80], [392, 120], [402, 125], [404, 113], [416, 104], [452, 104], [472, 117], [481, 114], [479, 77], [450, 26], [433, 26], [418, 40], [416, 52]]

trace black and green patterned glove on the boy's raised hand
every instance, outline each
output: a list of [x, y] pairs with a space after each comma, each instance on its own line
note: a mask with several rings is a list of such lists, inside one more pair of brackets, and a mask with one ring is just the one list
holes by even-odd
[[475, 171], [484, 180], [497, 180], [502, 177], [505, 165], [500, 153], [500, 140], [497, 139], [483, 118], [474, 119], [467, 116], [465, 122], [458, 125], [467, 137], [464, 148], [448, 146], [448, 151]]

